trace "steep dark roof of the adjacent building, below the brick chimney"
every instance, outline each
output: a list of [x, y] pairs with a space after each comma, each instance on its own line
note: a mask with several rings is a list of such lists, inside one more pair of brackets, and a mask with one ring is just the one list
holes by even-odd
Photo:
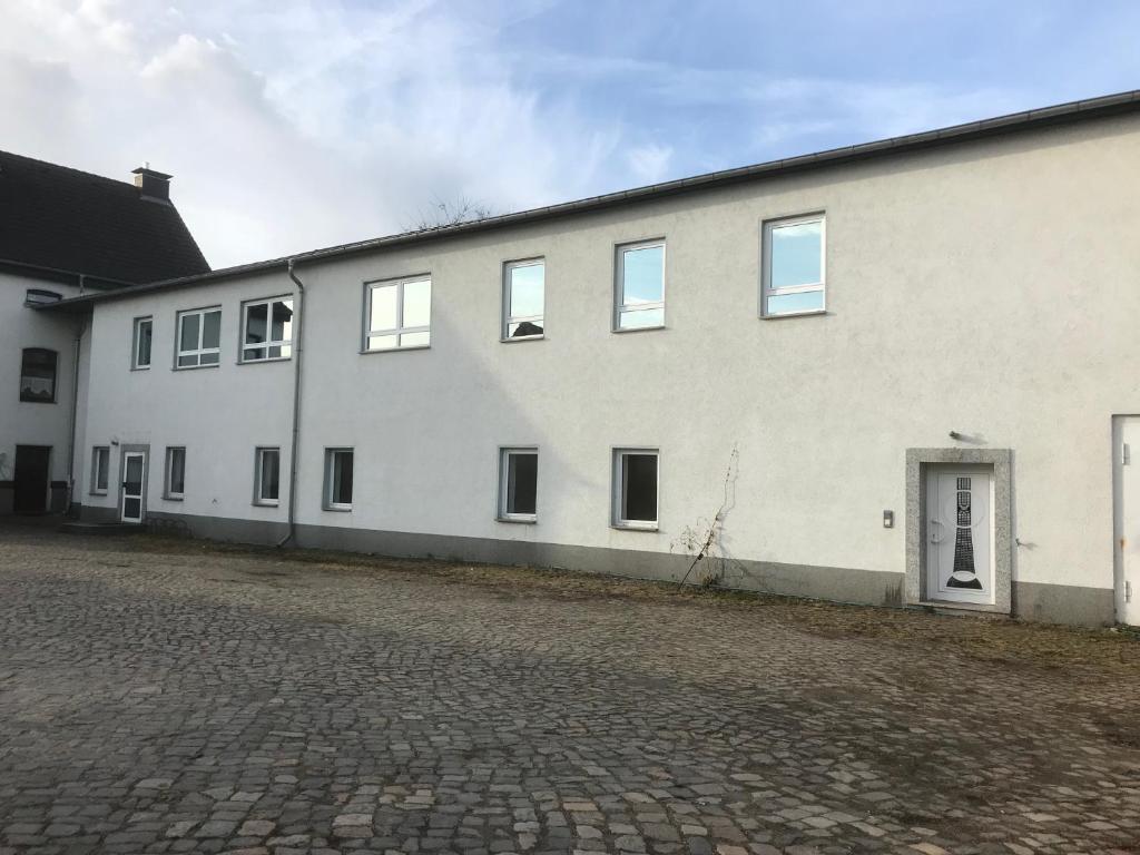
[[169, 199], [0, 152], [0, 262], [145, 283], [210, 271]]

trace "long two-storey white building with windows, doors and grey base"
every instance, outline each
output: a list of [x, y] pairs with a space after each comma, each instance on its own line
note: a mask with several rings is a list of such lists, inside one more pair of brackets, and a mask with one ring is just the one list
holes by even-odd
[[1131, 92], [39, 311], [88, 519], [1140, 622], [1138, 227]]

